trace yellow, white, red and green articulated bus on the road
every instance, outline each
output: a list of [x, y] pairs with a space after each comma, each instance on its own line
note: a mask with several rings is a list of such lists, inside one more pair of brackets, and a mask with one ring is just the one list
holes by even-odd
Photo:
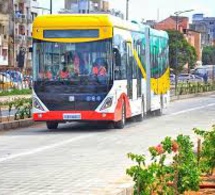
[[[95, 67], [103, 74], [95, 74]], [[48, 129], [160, 114], [170, 101], [168, 34], [106, 14], [39, 16], [33, 23], [33, 119]]]

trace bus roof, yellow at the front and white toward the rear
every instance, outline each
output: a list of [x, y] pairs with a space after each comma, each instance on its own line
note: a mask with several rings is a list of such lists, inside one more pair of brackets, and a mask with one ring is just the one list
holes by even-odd
[[[71, 27], [118, 27], [137, 32], [144, 32], [147, 25], [128, 22], [109, 14], [58, 14], [38, 16], [33, 22], [33, 28], [43, 29], [69, 29]], [[153, 35], [167, 37], [165, 31], [152, 30]]]

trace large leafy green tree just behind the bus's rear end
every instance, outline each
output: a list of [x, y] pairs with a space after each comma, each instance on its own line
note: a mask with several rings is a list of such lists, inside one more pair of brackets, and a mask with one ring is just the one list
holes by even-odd
[[177, 75], [186, 63], [193, 68], [197, 60], [195, 48], [191, 46], [184, 35], [176, 30], [167, 30], [169, 34], [169, 63], [170, 68]]

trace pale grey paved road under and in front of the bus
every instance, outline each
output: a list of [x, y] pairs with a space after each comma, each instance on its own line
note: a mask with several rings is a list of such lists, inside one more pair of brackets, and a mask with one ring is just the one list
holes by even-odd
[[215, 124], [215, 95], [172, 102], [161, 117], [115, 130], [97, 124], [45, 124], [0, 134], [1, 195], [117, 194], [130, 183], [128, 152], [146, 153], [165, 136], [196, 136]]

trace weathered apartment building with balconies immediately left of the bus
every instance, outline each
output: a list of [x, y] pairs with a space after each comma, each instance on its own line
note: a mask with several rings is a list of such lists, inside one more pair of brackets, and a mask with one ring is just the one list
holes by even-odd
[[31, 69], [32, 21], [37, 16], [36, 0], [14, 0], [14, 67]]

